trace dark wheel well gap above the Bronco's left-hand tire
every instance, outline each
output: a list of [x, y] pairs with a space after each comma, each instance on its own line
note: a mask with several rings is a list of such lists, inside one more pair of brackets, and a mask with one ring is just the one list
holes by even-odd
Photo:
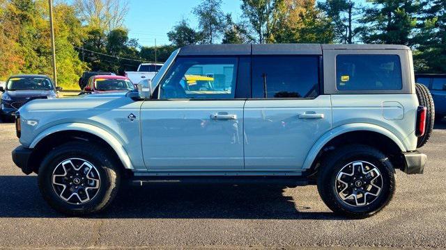
[[95, 144], [99, 144], [103, 149], [111, 154], [114, 157], [116, 163], [122, 167], [123, 172], [129, 172], [128, 169], [125, 169], [121, 159], [119, 159], [118, 154], [114, 149], [102, 138], [98, 137], [98, 135], [93, 135], [84, 131], [60, 131], [56, 133], [52, 133], [47, 135], [47, 137], [43, 138], [38, 142], [36, 147], [33, 149], [33, 153], [29, 158], [29, 163], [32, 163], [33, 172], [38, 173], [38, 169], [40, 167], [40, 163], [42, 163], [43, 158], [47, 155], [52, 149], [64, 144], [66, 142], [72, 141], [84, 141], [84, 142], [93, 142]]

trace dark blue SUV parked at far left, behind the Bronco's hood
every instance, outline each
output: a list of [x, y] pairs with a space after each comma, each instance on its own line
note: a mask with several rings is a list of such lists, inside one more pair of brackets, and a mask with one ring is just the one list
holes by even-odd
[[6, 81], [5, 88], [0, 88], [0, 115], [4, 120], [13, 117], [24, 103], [31, 99], [55, 99], [61, 87], [55, 87], [51, 78], [44, 75], [17, 75]]

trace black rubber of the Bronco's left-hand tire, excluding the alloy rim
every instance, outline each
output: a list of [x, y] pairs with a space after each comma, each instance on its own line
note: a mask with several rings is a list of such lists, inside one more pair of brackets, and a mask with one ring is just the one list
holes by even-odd
[[[95, 166], [100, 187], [90, 201], [72, 204], [56, 194], [52, 184], [54, 169], [63, 160], [82, 158]], [[38, 169], [38, 185], [43, 198], [54, 210], [71, 216], [82, 216], [104, 210], [116, 197], [121, 184], [121, 165], [104, 147], [91, 142], [68, 142], [50, 151]]]

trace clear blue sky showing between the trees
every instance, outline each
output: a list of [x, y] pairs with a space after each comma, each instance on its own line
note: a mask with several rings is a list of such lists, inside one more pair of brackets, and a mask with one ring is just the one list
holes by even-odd
[[[200, 0], [128, 0], [129, 12], [125, 17], [125, 27], [129, 37], [137, 38], [143, 46], [169, 44], [167, 32], [171, 31], [181, 19], [189, 21], [192, 28], [198, 28], [192, 9]], [[240, 0], [223, 0], [222, 10], [231, 13], [233, 20], [240, 19]]]

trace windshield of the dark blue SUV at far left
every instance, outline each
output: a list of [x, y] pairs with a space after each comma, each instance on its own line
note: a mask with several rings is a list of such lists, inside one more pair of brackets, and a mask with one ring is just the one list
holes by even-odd
[[8, 80], [7, 90], [52, 90], [49, 78], [43, 77], [15, 77]]

